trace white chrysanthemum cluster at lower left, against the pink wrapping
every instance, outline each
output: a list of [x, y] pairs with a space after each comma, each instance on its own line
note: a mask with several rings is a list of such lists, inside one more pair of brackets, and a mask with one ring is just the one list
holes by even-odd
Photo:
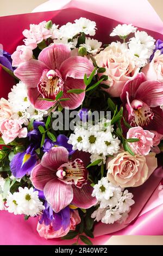
[[5, 210], [15, 215], [25, 214], [32, 217], [42, 214], [45, 206], [39, 199], [38, 191], [34, 191], [33, 187], [19, 187], [18, 191], [14, 194], [8, 193]]

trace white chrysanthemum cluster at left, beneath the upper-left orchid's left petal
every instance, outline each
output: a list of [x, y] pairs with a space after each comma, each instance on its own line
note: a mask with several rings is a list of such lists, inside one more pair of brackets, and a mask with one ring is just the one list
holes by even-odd
[[42, 121], [47, 111], [35, 109], [28, 100], [26, 85], [22, 82], [16, 84], [8, 94], [13, 115], [12, 119], [22, 121], [22, 124], [28, 125], [29, 121], [34, 118], [36, 121]]

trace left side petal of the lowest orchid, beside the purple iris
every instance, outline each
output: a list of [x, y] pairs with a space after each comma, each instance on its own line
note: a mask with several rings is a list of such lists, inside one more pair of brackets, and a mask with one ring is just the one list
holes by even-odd
[[41, 163], [37, 164], [31, 174], [30, 180], [37, 190], [43, 190], [48, 181], [54, 179], [54, 172], [47, 167], [43, 167]]

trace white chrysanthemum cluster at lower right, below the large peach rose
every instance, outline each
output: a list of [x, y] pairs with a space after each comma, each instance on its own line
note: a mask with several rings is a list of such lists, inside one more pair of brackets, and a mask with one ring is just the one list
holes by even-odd
[[113, 185], [106, 177], [99, 180], [93, 188], [92, 197], [97, 198], [99, 207], [91, 217], [105, 224], [126, 221], [130, 206], [135, 203], [133, 194]]

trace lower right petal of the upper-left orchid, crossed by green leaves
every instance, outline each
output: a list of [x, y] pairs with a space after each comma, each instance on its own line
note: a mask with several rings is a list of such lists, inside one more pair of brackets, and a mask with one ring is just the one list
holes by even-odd
[[85, 89], [83, 80], [68, 77], [66, 82], [64, 83], [63, 97], [70, 98], [70, 100], [61, 101], [60, 104], [62, 107], [69, 107], [70, 109], [75, 109], [82, 104], [85, 97], [85, 92], [80, 94], [67, 93], [67, 91], [70, 89]]

